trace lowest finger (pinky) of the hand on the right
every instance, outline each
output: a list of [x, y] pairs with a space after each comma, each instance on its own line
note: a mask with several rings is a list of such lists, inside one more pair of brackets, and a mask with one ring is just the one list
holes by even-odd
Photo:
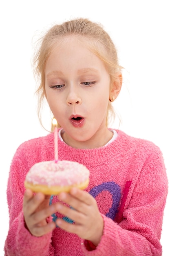
[[57, 212], [60, 212], [62, 215], [67, 218], [73, 220], [76, 223], [82, 224], [86, 221], [86, 216], [83, 212], [75, 211], [75, 209], [71, 209], [66, 205], [61, 203], [56, 204]]

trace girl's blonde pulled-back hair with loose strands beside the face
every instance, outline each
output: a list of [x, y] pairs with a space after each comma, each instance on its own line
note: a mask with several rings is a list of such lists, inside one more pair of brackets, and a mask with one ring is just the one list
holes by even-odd
[[[66, 36], [77, 36], [80, 40], [85, 37], [86, 46], [89, 47], [91, 52], [98, 56], [106, 66], [106, 69], [110, 75], [110, 85], [113, 86], [115, 81], [115, 74], [121, 70], [121, 66], [118, 64], [117, 51], [113, 41], [108, 33], [103, 29], [102, 25], [95, 22], [91, 22], [88, 19], [79, 18], [64, 22], [60, 25], [55, 25], [47, 31], [47, 33], [40, 39], [38, 51], [34, 56], [34, 75], [39, 79], [40, 84], [36, 93], [38, 94], [38, 116], [41, 121], [41, 108], [44, 96], [46, 97], [44, 86], [44, 68], [46, 61], [53, 51], [54, 45], [57, 41], [61, 43], [61, 39]], [[84, 40], [81, 40], [84, 43]], [[114, 89], [114, 88], [113, 88]], [[109, 117], [115, 117], [113, 107], [108, 101], [108, 110], [106, 125], [108, 125]]]

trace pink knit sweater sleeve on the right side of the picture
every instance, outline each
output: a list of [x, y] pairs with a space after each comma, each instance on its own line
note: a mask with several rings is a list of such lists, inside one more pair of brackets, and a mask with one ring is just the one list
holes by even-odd
[[82, 241], [86, 256], [161, 256], [163, 210], [168, 193], [163, 157], [159, 149], [152, 153], [126, 201], [123, 220], [118, 224], [104, 218], [99, 245], [90, 251]]

